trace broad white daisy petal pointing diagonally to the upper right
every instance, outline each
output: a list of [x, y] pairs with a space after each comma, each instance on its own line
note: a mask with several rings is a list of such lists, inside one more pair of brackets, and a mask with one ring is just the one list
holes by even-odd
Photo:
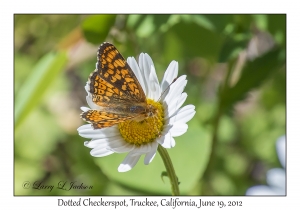
[[172, 103], [174, 98], [181, 95], [186, 84], [186, 75], [180, 76], [173, 84], [170, 85], [169, 90], [163, 92], [160, 101], [164, 101], [167, 104]]

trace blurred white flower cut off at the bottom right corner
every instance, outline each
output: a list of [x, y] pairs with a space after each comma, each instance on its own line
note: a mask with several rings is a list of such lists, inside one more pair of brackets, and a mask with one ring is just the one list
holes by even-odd
[[278, 159], [283, 168], [272, 168], [267, 172], [266, 180], [268, 185], [257, 185], [250, 187], [246, 195], [285, 195], [286, 175], [285, 175], [285, 136], [278, 138], [276, 150]]

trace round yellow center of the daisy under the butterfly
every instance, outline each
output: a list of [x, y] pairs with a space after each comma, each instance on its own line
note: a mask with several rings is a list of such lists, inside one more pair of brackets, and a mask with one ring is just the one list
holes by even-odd
[[119, 123], [119, 130], [126, 142], [140, 146], [153, 142], [161, 133], [164, 126], [164, 110], [159, 102], [147, 99], [147, 104], [152, 105], [152, 116], [142, 121], [128, 120]]

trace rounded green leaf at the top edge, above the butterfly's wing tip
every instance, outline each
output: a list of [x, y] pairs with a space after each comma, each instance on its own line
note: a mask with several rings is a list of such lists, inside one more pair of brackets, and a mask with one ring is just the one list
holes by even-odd
[[88, 42], [102, 43], [111, 27], [114, 25], [116, 15], [91, 15], [82, 23], [83, 34]]

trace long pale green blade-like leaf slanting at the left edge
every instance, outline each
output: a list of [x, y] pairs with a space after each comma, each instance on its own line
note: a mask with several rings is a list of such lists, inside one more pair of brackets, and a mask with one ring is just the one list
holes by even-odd
[[64, 69], [67, 63], [65, 52], [48, 53], [33, 68], [31, 75], [16, 93], [15, 128], [39, 103], [46, 89]]

